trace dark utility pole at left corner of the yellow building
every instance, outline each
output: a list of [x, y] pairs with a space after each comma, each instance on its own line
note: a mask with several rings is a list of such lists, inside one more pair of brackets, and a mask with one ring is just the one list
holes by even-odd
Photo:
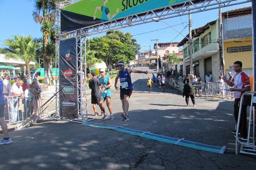
[[[221, 5], [219, 4], [219, 7]], [[223, 24], [222, 24], [222, 15], [221, 15], [221, 8], [219, 8], [219, 19], [218, 19], [218, 34], [219, 34], [219, 75], [223, 76], [224, 72], [224, 62], [223, 62]]]

